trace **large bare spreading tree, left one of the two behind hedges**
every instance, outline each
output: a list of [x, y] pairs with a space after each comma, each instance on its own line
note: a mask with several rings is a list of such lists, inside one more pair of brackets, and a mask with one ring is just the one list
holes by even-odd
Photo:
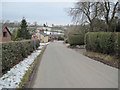
[[90, 31], [93, 31], [93, 21], [103, 15], [104, 8], [101, 2], [77, 2], [74, 8], [70, 8], [69, 15], [76, 23], [90, 24]]

